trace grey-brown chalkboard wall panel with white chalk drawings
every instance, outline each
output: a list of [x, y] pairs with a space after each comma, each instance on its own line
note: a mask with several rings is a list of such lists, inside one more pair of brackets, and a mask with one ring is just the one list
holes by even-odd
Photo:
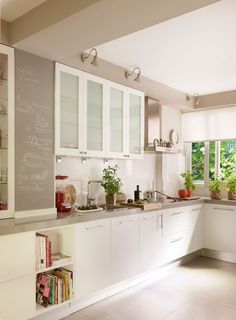
[[54, 207], [54, 63], [15, 50], [15, 210]]

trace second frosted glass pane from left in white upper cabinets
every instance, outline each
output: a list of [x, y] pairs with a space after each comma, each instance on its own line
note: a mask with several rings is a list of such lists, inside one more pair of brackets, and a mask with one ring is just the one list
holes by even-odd
[[[91, 76], [92, 77], [92, 76]], [[92, 77], [93, 79], [93, 77]], [[87, 149], [89, 154], [99, 154], [104, 149], [104, 84], [91, 79], [86, 80], [87, 88]]]

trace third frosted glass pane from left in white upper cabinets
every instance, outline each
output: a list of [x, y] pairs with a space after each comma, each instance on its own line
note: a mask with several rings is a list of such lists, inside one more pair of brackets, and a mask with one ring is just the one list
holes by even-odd
[[124, 152], [124, 91], [109, 87], [109, 152]]

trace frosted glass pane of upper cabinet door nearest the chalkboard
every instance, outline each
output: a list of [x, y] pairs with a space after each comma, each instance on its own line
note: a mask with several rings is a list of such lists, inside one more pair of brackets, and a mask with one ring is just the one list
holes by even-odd
[[79, 83], [80, 79], [78, 76], [61, 72], [61, 148], [79, 148]]

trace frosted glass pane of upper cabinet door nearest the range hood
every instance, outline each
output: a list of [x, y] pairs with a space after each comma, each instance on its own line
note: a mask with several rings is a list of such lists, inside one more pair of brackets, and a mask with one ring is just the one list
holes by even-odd
[[143, 96], [129, 93], [129, 154], [143, 153]]

